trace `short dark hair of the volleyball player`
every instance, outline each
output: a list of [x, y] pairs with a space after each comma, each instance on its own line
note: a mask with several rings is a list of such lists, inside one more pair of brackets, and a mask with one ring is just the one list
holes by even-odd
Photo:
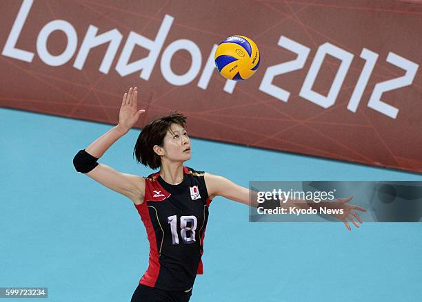
[[153, 147], [156, 144], [163, 147], [165, 134], [172, 124], [185, 127], [186, 117], [174, 112], [168, 116], [161, 116], [161, 118], [152, 120], [143, 127], [133, 149], [133, 155], [139, 164], [149, 166], [151, 169], [157, 169], [161, 166], [161, 158], [154, 152]]

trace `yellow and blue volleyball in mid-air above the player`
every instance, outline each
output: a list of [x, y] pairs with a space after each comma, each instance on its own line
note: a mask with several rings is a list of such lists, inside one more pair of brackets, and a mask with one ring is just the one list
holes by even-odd
[[246, 36], [229, 36], [214, 54], [219, 73], [229, 80], [246, 80], [258, 69], [261, 56], [257, 45]]

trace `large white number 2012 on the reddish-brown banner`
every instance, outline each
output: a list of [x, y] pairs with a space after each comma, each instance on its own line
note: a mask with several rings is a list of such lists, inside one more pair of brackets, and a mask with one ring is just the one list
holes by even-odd
[[[293, 72], [303, 68], [305, 61], [309, 56], [310, 48], [290, 40], [285, 36], [280, 37], [278, 45], [296, 53], [297, 58], [293, 61], [288, 61], [268, 67], [259, 90], [274, 96], [274, 98], [278, 98], [279, 100], [287, 102], [290, 96], [290, 92], [282, 89], [281, 87], [273, 85], [272, 80], [274, 76], [278, 76], [279, 74], [286, 74], [288, 72]], [[321, 69], [325, 55], [327, 54], [334, 56], [334, 58], [338, 58], [341, 61], [341, 65], [336, 73], [336, 76], [334, 77], [334, 81], [330, 87], [328, 95], [323, 96], [322, 94], [312, 90], [312, 86], [314, 85], [316, 76]], [[352, 112], [356, 112], [356, 109], [359, 106], [363, 91], [365, 90], [366, 85], [368, 85], [368, 80], [372, 74], [379, 55], [366, 48], [363, 48], [360, 57], [363, 58], [366, 62], [363, 66], [356, 87], [354, 88], [352, 97], [348, 103], [348, 110]], [[315, 103], [316, 105], [319, 105], [325, 109], [334, 105], [352, 60], [353, 54], [341, 49], [340, 47], [336, 47], [331, 43], [327, 42], [319, 46], [318, 50], [316, 51], [314, 61], [312, 61], [309, 72], [305, 78], [305, 81], [303, 82], [299, 96], [310, 100], [312, 103]], [[381, 95], [386, 91], [411, 85], [414, 77], [416, 76], [419, 65], [397, 54], [394, 54], [394, 52], [390, 52], [388, 54], [387, 62], [400, 67], [401, 69], [404, 69], [406, 73], [404, 76], [400, 76], [399, 78], [393, 78], [392, 80], [386, 80], [385, 82], [377, 83], [374, 87], [374, 91], [372, 91], [372, 95], [370, 96], [368, 107], [395, 119], [399, 113], [399, 109], [384, 103], [381, 100]]]

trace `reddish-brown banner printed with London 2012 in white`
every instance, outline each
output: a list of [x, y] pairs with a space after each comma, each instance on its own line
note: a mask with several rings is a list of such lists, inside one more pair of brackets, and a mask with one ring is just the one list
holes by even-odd
[[[422, 1], [3, 0], [0, 105], [116, 124], [139, 90], [191, 136], [422, 172]], [[232, 34], [261, 65], [225, 80]]]

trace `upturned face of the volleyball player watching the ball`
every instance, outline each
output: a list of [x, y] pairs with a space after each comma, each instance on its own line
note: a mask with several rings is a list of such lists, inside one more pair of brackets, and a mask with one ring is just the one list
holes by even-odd
[[190, 160], [190, 139], [186, 130], [179, 124], [172, 124], [165, 134], [163, 147], [165, 158], [171, 161]]

